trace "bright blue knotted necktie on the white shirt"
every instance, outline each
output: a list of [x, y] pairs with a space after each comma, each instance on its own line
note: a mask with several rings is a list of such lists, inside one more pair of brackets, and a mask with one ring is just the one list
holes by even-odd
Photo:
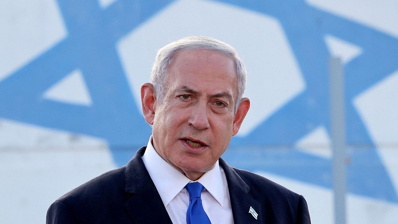
[[203, 210], [200, 195], [205, 189], [199, 182], [189, 183], [185, 186], [189, 193], [189, 206], [187, 210], [187, 224], [211, 224], [205, 210]]

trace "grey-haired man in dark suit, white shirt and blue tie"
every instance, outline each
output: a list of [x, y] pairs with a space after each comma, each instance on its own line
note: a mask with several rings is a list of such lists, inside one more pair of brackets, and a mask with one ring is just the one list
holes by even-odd
[[160, 49], [141, 87], [148, 145], [55, 201], [47, 223], [310, 223], [301, 195], [220, 158], [249, 110], [245, 85], [222, 41], [185, 37]]

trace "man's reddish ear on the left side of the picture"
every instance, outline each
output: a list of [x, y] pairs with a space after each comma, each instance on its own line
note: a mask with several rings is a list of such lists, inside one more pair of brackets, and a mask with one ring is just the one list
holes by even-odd
[[141, 106], [142, 114], [148, 124], [153, 124], [155, 117], [156, 96], [151, 83], [144, 83], [141, 86]]

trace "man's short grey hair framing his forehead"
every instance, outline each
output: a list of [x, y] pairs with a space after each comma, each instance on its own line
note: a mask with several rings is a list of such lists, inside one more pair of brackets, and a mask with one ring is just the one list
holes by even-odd
[[236, 66], [238, 76], [238, 98], [236, 99], [235, 113], [242, 100], [246, 88], [246, 67], [236, 50], [229, 44], [218, 39], [203, 36], [190, 36], [173, 41], [160, 48], [152, 66], [150, 82], [154, 86], [154, 91], [159, 102], [164, 98], [164, 85], [166, 83], [167, 67], [172, 63], [172, 58], [181, 50], [208, 49], [218, 51], [232, 59]]

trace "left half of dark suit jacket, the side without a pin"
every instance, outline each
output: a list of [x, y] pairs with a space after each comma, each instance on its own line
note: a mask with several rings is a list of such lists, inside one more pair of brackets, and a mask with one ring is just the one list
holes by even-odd
[[[47, 211], [47, 224], [170, 223], [141, 156], [61, 196]], [[156, 216], [153, 216], [153, 211]]]

